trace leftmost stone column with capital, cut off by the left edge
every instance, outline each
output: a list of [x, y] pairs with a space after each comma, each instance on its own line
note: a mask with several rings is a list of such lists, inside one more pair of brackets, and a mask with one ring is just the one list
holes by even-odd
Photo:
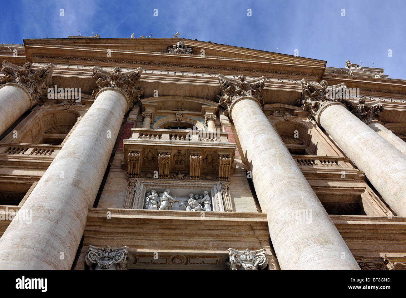
[[32, 68], [4, 61], [0, 81], [0, 135], [28, 109], [41, 101], [51, 85], [53, 64]]

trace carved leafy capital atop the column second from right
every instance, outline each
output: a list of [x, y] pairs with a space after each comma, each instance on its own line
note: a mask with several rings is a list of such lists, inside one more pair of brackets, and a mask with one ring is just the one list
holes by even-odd
[[331, 103], [347, 104], [347, 87], [344, 83], [328, 86], [325, 80], [319, 84], [308, 82], [305, 79], [300, 80], [300, 83], [302, 85], [302, 98], [297, 100], [296, 105], [303, 106], [304, 110], [310, 112], [309, 119], [318, 122], [320, 111]]

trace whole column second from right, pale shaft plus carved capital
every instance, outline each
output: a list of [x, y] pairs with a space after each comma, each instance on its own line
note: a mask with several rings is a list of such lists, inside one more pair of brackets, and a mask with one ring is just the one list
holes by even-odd
[[303, 108], [365, 173], [396, 214], [406, 216], [406, 155], [348, 110], [354, 106], [340, 95], [345, 90], [344, 84], [302, 80]]

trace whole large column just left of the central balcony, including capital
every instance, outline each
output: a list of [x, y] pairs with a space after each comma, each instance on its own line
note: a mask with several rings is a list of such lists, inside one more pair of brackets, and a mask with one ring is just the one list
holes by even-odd
[[0, 270], [71, 268], [123, 117], [143, 93], [141, 72], [93, 69], [95, 101], [22, 206], [32, 223], [14, 219], [0, 238]]

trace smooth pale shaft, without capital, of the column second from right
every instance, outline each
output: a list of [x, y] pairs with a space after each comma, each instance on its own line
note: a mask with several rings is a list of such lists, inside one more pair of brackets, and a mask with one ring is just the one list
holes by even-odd
[[365, 173], [393, 211], [406, 216], [406, 155], [339, 103], [320, 111], [319, 124]]

